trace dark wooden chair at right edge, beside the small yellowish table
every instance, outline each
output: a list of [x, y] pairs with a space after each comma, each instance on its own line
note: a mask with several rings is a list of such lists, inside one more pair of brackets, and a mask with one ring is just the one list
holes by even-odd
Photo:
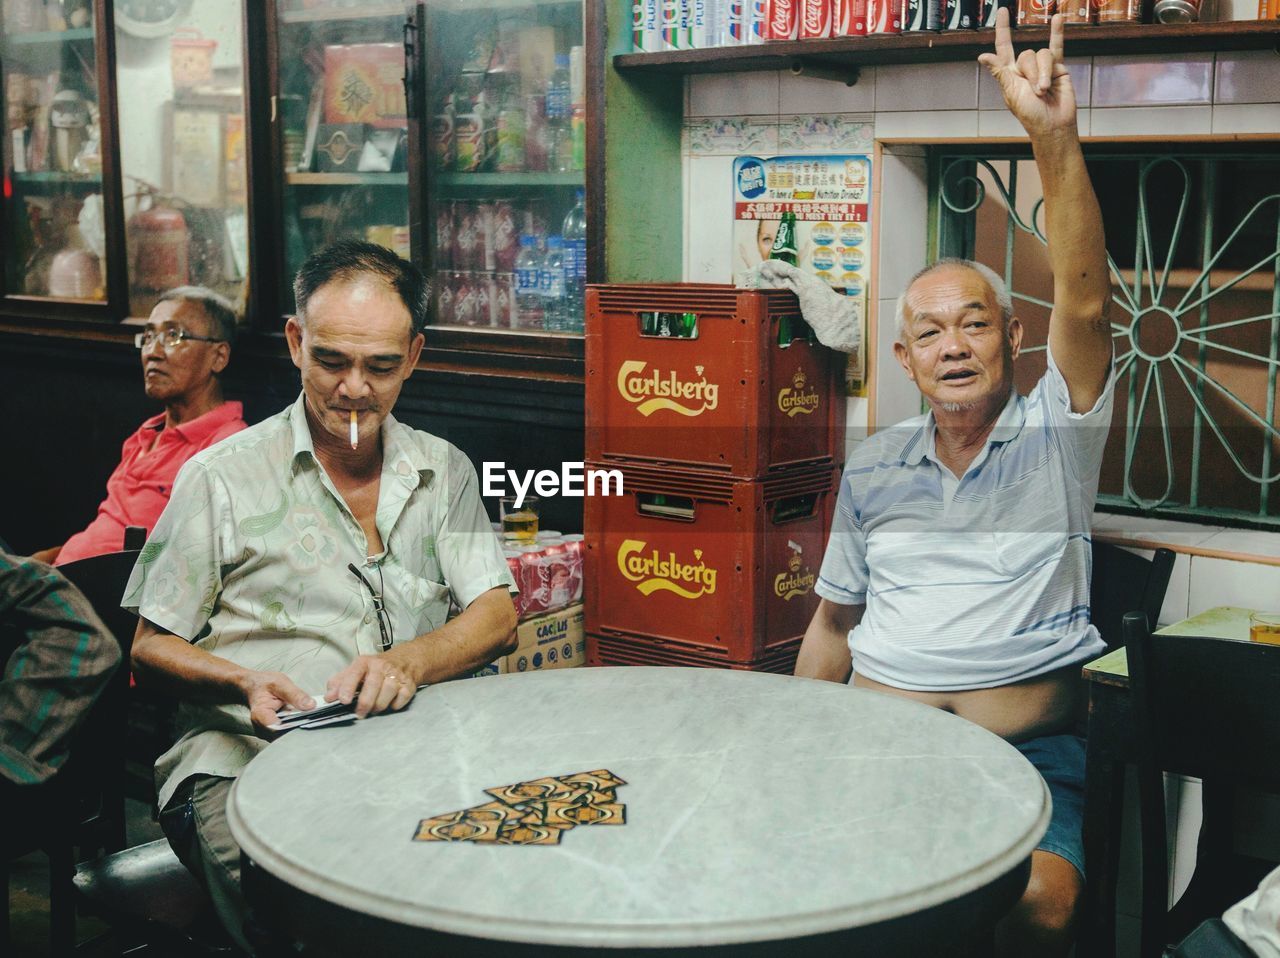
[[[1140, 958], [1160, 958], [1220, 916], [1274, 866], [1233, 852], [1238, 786], [1280, 793], [1280, 645], [1194, 635], [1152, 637], [1124, 617], [1138, 739], [1142, 832]], [[1190, 885], [1170, 909], [1164, 774], [1202, 780], [1203, 818]]]

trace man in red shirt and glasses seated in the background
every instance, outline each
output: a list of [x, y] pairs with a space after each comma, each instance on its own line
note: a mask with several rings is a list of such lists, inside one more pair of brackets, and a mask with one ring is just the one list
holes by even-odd
[[97, 519], [36, 558], [74, 562], [123, 549], [125, 526], [141, 525], [150, 533], [182, 465], [244, 428], [243, 407], [223, 400], [219, 380], [234, 336], [236, 309], [211, 289], [184, 286], [160, 297], [136, 343], [142, 351], [146, 393], [160, 400], [165, 411], [124, 441]]

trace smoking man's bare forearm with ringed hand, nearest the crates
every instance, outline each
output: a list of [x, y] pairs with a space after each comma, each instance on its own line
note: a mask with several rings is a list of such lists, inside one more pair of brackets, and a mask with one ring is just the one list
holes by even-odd
[[[516, 648], [516, 607], [504, 585], [480, 594], [435, 631], [360, 656], [329, 679], [325, 698], [356, 702], [356, 715], [403, 708], [419, 685], [470, 675]], [[358, 690], [358, 698], [357, 695]]]

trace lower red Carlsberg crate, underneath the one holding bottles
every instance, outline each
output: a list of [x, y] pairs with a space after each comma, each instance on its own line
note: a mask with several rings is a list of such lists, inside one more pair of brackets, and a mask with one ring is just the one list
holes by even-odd
[[[600, 464], [593, 464], [600, 467]], [[622, 469], [622, 496], [589, 496], [586, 631], [750, 663], [804, 635], [837, 474], [760, 482]]]

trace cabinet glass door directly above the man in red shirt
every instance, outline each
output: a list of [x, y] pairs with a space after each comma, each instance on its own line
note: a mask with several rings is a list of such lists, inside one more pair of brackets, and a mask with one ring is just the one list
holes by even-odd
[[115, 0], [128, 311], [248, 288], [244, 0]]

